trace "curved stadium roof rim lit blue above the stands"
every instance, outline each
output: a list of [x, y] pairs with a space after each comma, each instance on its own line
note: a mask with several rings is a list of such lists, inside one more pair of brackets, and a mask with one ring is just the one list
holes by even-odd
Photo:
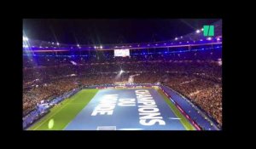
[[150, 49], [166, 47], [186, 47], [197, 46], [202, 44], [222, 43], [222, 20], [212, 23], [214, 25], [214, 36], [205, 37], [203, 28], [198, 28], [193, 32], [183, 34], [182, 36], [173, 37], [171, 40], [150, 42], [150, 43], [114, 43], [114, 44], [67, 44], [59, 42], [46, 42], [33, 40], [23, 37], [23, 49], [38, 52], [46, 51], [67, 51], [67, 50], [108, 50], [108, 49]]

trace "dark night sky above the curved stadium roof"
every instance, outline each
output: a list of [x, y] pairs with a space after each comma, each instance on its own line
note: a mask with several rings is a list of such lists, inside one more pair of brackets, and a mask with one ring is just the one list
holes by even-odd
[[23, 33], [36, 40], [72, 44], [148, 43], [183, 36], [218, 19], [25, 19]]

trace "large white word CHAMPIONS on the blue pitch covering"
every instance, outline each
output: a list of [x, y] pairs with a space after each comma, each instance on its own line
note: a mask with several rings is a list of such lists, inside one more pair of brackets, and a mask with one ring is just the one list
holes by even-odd
[[149, 91], [147, 89], [139, 89], [136, 90], [135, 93], [137, 95], [140, 123], [145, 126], [152, 126], [155, 123], [166, 125]]

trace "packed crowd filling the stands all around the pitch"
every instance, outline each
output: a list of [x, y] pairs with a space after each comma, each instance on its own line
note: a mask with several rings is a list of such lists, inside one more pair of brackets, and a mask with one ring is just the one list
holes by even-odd
[[[117, 77], [120, 70], [124, 73]], [[134, 77], [134, 83], [166, 84], [222, 123], [222, 67], [213, 60], [143, 60], [133, 57], [78, 62], [77, 65], [69, 61], [33, 67], [25, 64], [23, 114], [32, 111], [41, 100], [52, 99], [79, 86], [127, 81], [135, 74], [138, 75]]]

